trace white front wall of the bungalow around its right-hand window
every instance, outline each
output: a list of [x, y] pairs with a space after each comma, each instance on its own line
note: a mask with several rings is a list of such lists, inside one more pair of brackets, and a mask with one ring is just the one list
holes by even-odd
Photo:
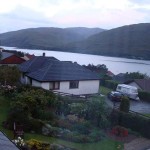
[[60, 82], [60, 89], [55, 91], [74, 95], [95, 94], [99, 92], [99, 80], [79, 81], [79, 87], [77, 89], [70, 89], [69, 86], [69, 81]]

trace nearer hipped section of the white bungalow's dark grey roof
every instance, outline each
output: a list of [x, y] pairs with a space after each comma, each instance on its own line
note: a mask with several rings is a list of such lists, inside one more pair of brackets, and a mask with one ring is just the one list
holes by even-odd
[[64, 61], [51, 61], [47, 66], [27, 74], [38, 81], [71, 81], [71, 80], [99, 80], [96, 73], [79, 64]]

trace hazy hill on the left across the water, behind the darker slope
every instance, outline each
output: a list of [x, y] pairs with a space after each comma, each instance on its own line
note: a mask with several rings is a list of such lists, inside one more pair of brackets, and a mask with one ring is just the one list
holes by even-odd
[[102, 32], [100, 28], [30, 28], [0, 34], [1, 45], [29, 49], [61, 50], [69, 42], [77, 42]]

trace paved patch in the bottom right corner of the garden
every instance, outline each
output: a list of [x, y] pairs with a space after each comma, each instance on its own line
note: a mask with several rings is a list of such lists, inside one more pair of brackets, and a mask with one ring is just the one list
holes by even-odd
[[124, 144], [124, 150], [149, 150], [150, 140], [145, 138], [137, 138], [129, 143]]

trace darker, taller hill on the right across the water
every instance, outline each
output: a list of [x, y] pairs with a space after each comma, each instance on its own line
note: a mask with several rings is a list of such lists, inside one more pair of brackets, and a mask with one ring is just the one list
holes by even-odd
[[150, 23], [134, 24], [104, 31], [64, 49], [106, 56], [150, 59]]

